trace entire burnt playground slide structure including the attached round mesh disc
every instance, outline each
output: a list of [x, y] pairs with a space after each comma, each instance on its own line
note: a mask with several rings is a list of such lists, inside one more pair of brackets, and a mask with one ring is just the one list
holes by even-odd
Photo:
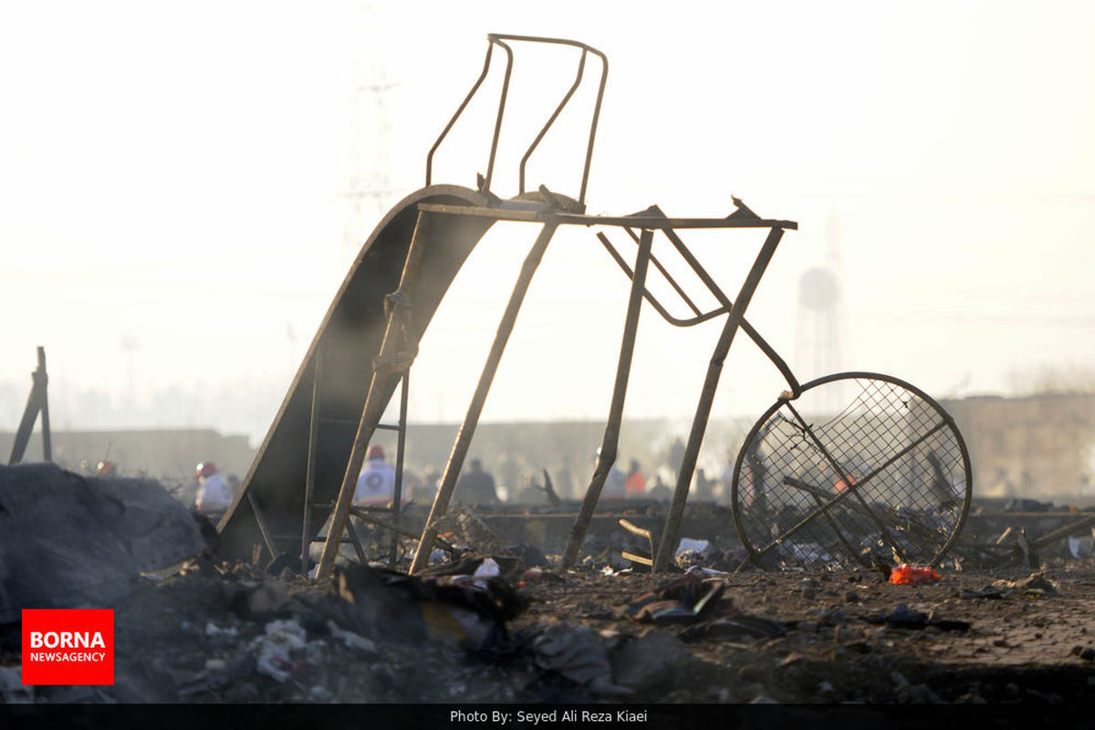
[[[746, 310], [775, 254], [789, 220], [763, 218], [735, 198], [724, 217], [672, 218], [657, 206], [625, 216], [586, 213], [586, 189], [597, 135], [608, 59], [586, 44], [560, 38], [487, 36], [483, 70], [426, 157], [425, 186], [400, 201], [377, 225], [335, 294], [334, 302], [297, 371], [280, 409], [235, 501], [218, 524], [224, 556], [251, 557], [256, 548], [273, 559], [299, 554], [308, 565], [312, 543], [322, 542], [318, 575], [331, 573], [348, 535], [358, 540], [351, 513], [408, 536], [401, 524], [403, 451], [407, 389], [418, 341], [448, 287], [476, 242], [498, 221], [525, 222], [537, 234], [498, 324], [460, 426], [411, 572], [419, 572], [437, 540], [438, 521], [468, 455], [485, 399], [518, 311], [537, 267], [561, 225], [596, 227], [596, 240], [631, 280], [612, 401], [597, 466], [562, 558], [574, 566], [609, 470], [616, 456], [624, 398], [644, 301], [675, 326], [689, 327], [722, 317], [692, 421], [683, 462], [657, 545], [653, 568], [669, 566], [696, 457], [704, 438], [723, 363], [735, 336], [744, 332], [786, 380], [787, 390], [757, 421], [738, 455], [733, 480], [733, 515], [747, 560], [765, 569], [788, 566], [871, 566], [875, 560], [937, 565], [954, 544], [969, 510], [972, 477], [969, 455], [950, 416], [922, 391], [895, 378], [866, 372], [827, 375], [800, 384], [775, 349], [746, 320]], [[498, 141], [515, 62], [515, 47], [551, 45], [573, 50], [574, 81], [527, 148], [518, 170], [516, 197], [492, 190]], [[475, 189], [433, 181], [438, 148], [492, 70], [495, 51], [505, 56], [497, 116], [485, 174]], [[596, 60], [599, 74], [587, 74]], [[592, 105], [576, 197], [526, 179], [529, 159], [589, 76], [596, 76]], [[681, 236], [691, 229], [763, 231], [752, 265], [731, 299], [702, 266]], [[665, 236], [676, 256], [717, 302], [702, 311], [652, 253]], [[611, 236], [635, 245], [625, 255]], [[659, 276], [687, 308], [675, 316], [652, 294], [647, 280]], [[399, 389], [399, 418], [382, 415]], [[378, 429], [397, 432], [395, 496], [390, 508], [351, 506], [354, 487], [369, 442]], [[328, 524], [325, 534], [323, 525]], [[359, 546], [358, 546], [359, 548]]]

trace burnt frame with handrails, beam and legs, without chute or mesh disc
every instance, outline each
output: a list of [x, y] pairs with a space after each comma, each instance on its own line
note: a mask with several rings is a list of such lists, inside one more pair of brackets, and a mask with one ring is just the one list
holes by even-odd
[[[739, 327], [744, 328], [784, 375], [791, 387], [785, 395], [794, 397], [797, 395], [799, 390], [798, 383], [791, 373], [786, 363], [782, 360], [782, 358], [780, 358], [775, 350], [760, 337], [757, 331], [745, 321], [744, 317], [745, 310], [747, 309], [753, 291], [760, 281], [761, 275], [775, 252], [783, 232], [785, 230], [796, 230], [797, 223], [787, 220], [762, 219], [749, 210], [749, 208], [741, 204], [741, 201], [737, 198], [734, 199], [737, 209], [725, 218], [669, 218], [656, 206], [633, 216], [613, 217], [585, 215], [585, 196], [589, 178], [589, 166], [592, 158], [593, 142], [597, 135], [597, 123], [600, 116], [601, 103], [603, 101], [604, 85], [608, 78], [607, 57], [604, 54], [596, 48], [592, 48], [591, 46], [563, 38], [491, 34], [487, 36], [487, 42], [486, 58], [483, 63], [482, 72], [472, 85], [471, 91], [461, 102], [456, 113], [449, 119], [448, 124], [441, 130], [441, 134], [438, 136], [434, 146], [427, 153], [427, 188], [424, 188], [424, 192], [430, 189], [435, 153], [445, 141], [457, 120], [463, 114], [471, 100], [482, 88], [483, 82], [491, 71], [494, 47], [498, 46], [505, 51], [507, 60], [487, 158], [486, 174], [480, 175], [479, 179], [479, 197], [482, 202], [474, 201], [468, 196], [461, 195], [456, 196], [457, 202], [449, 202], [447, 200], [440, 202], [418, 200], [413, 204], [413, 208], [410, 208], [415, 216], [415, 224], [413, 231], [411, 232], [408, 246], [405, 250], [405, 257], [402, 262], [402, 274], [400, 275], [399, 286], [393, 293], [388, 294], [384, 298], [384, 317], [387, 322], [383, 326], [383, 337], [380, 339], [379, 354], [372, 363], [372, 372], [369, 378], [368, 391], [365, 396], [365, 403], [361, 406], [360, 416], [357, 418], [357, 428], [349, 449], [348, 459], [345, 462], [345, 470], [342, 470], [341, 465], [338, 467], [339, 473], [342, 474], [342, 483], [337, 497], [333, 505], [324, 505], [324, 507], [332, 508], [332, 513], [330, 518], [331, 524], [324, 540], [322, 556], [316, 571], [319, 577], [326, 577], [331, 573], [338, 548], [343, 542], [343, 534], [347, 530], [350, 532], [353, 537], [355, 549], [357, 549], [360, 555], [360, 545], [357, 541], [356, 534], [354, 533], [349, 517], [351, 513], [358, 514], [359, 517], [365, 514], [365, 512], [360, 509], [354, 508], [351, 506], [351, 501], [357, 477], [365, 459], [366, 448], [378, 428], [396, 428], [399, 430], [399, 463], [396, 467], [395, 494], [392, 507], [389, 510], [392, 512], [394, 520], [392, 524], [383, 523], [382, 521], [374, 519], [367, 519], [367, 521], [382, 528], [388, 528], [392, 531], [391, 556], [393, 564], [397, 549], [397, 535], [405, 533], [399, 524], [399, 518], [403, 480], [402, 462], [406, 425], [407, 385], [410, 379], [410, 368], [415, 356], [417, 355], [417, 341], [422, 334], [420, 332], [411, 332], [410, 329], [413, 320], [411, 315], [411, 310], [413, 309], [411, 296], [418, 277], [418, 271], [423, 268], [423, 257], [427, 255], [425, 251], [427, 244], [425, 241], [429, 237], [427, 232], [431, 229], [431, 227], [439, 227], [434, 233], [435, 237], [438, 235], [443, 237], [443, 231], [447, 230], [446, 227], [454, 225], [453, 220], [459, 217], [475, 217], [483, 220], [485, 223], [484, 225], [473, 227], [475, 230], [481, 231], [480, 235], [482, 235], [482, 231], [485, 231], [491, 225], [499, 221], [531, 222], [538, 223], [541, 228], [535, 242], [526, 257], [517, 282], [514, 286], [512, 293], [510, 294], [509, 302], [506, 306], [505, 313], [503, 314], [502, 321], [499, 322], [495, 339], [483, 367], [475, 392], [472, 396], [471, 403], [469, 404], [468, 413], [458, 432], [456, 442], [453, 443], [452, 451], [446, 464], [441, 484], [438, 488], [437, 495], [435, 496], [429, 517], [418, 540], [418, 548], [411, 566], [411, 572], [422, 570], [428, 563], [434, 542], [437, 537], [438, 520], [442, 518], [448, 510], [449, 502], [463, 467], [464, 459], [466, 457], [468, 450], [471, 445], [475, 428], [482, 414], [485, 399], [493, 383], [494, 375], [497, 371], [506, 344], [509, 339], [509, 335], [512, 332], [518, 312], [540, 260], [542, 259], [554, 232], [560, 225], [598, 225], [622, 228], [635, 241], [638, 247], [634, 268], [632, 268], [627, 265], [626, 260], [619, 254], [619, 252], [616, 252], [609, 243], [608, 237], [603, 233], [598, 235], [601, 243], [604, 244], [609, 253], [621, 266], [625, 275], [631, 279], [631, 296], [629, 298], [627, 314], [621, 340], [612, 403], [609, 410], [604, 434], [602, 437], [599, 460], [589, 487], [586, 491], [581, 509], [575, 521], [574, 528], [570, 531], [563, 560], [565, 567], [573, 565], [576, 558], [578, 548], [580, 547], [581, 541], [585, 536], [593, 509], [600, 498], [600, 493], [603, 488], [609, 471], [615, 461], [620, 428], [623, 418], [623, 405], [626, 396], [627, 383], [630, 381], [631, 364], [637, 335], [638, 316], [644, 299], [650, 302], [661, 316], [677, 326], [692, 326], [701, 322], [713, 320], [723, 314], [727, 315], [727, 322], [724, 326], [722, 337], [718, 340], [718, 345], [715, 348], [715, 352], [712, 356], [707, 378], [696, 407], [692, 434], [690, 436], [689, 445], [685, 451], [684, 466], [682, 467], [681, 474], [678, 478], [672, 508], [666, 522], [666, 530], [661, 542], [661, 552], [659, 552], [657, 556], [657, 569], [665, 568], [666, 558], [664, 553], [667, 551], [666, 546], [671, 546], [676, 542], [676, 534], [679, 528], [684, 501], [688, 496], [691, 474], [695, 467], [700, 444], [703, 440], [703, 433], [711, 414], [712, 402], [714, 399], [718, 378], [722, 372], [723, 362], [737, 329]], [[520, 159], [520, 163], [518, 165], [518, 197], [514, 200], [502, 200], [491, 192], [491, 183], [494, 176], [498, 140], [500, 137], [502, 124], [505, 116], [509, 84], [514, 69], [514, 51], [509, 45], [511, 43], [539, 43], [568, 46], [578, 49], [580, 54], [578, 56], [577, 68], [573, 82]], [[564, 196], [556, 195], [555, 193], [549, 190], [543, 185], [539, 186], [539, 195], [527, 195], [525, 188], [528, 162], [581, 85], [589, 55], [597, 56], [600, 59], [601, 72], [589, 124], [589, 135], [586, 141], [585, 161], [581, 169], [581, 183], [578, 197], [576, 199], [565, 198]], [[468, 193], [470, 193], [470, 190]], [[464, 218], [464, 220], [466, 220], [466, 218]], [[722, 289], [718, 288], [711, 275], [707, 274], [691, 251], [689, 251], [688, 246], [684, 245], [683, 241], [677, 233], [677, 229], [769, 229], [768, 237], [761, 246], [761, 250], [757, 255], [757, 259], [749, 270], [736, 301], [731, 301], [722, 291]], [[661, 264], [661, 262], [657, 257], [653, 256], [652, 246], [656, 231], [661, 231], [669, 239], [675, 248], [718, 301], [718, 308], [706, 313], [700, 312], [695, 302], [689, 298], [683, 287], [681, 287], [672, 278], [669, 270]], [[694, 317], [690, 320], [679, 320], [672, 317], [669, 315], [668, 310], [662, 306], [661, 303], [647, 290], [646, 276], [648, 267], [652, 264], [656, 270], [658, 270], [661, 276], [670, 282], [670, 286], [677, 294], [682, 298], [685, 304], [695, 314]], [[428, 322], [428, 318], [426, 322]], [[425, 323], [420, 323], [419, 326], [424, 327]], [[300, 523], [302, 528], [300, 541], [300, 558], [302, 569], [307, 569], [308, 567], [309, 546], [312, 542], [310, 533], [314, 526], [312, 524], [310, 510], [313, 507], [311, 503], [312, 496], [316, 488], [316, 450], [320, 438], [318, 422], [324, 420], [320, 418], [321, 414], [318, 405], [321, 386], [321, 366], [323, 361], [323, 358], [321, 358], [321, 349], [322, 348], [316, 345], [312, 364], [313, 382], [311, 387], [312, 403], [308, 434], [308, 461], [303, 473], [304, 515], [302, 523]], [[379, 420], [388, 407], [396, 383], [402, 384], [400, 396], [400, 425], [397, 427], [387, 427], [385, 425], [380, 424]], [[343, 420], [350, 422], [349, 419]], [[250, 496], [251, 495], [249, 493], [249, 498]], [[252, 500], [250, 503], [252, 512], [254, 513], [256, 521], [260, 523], [262, 537], [264, 542], [266, 542], [267, 548], [273, 553], [275, 547], [274, 540], [278, 536], [272, 536], [268, 534], [269, 531], [265, 529], [263, 524], [265, 521], [257, 509], [257, 502]]]

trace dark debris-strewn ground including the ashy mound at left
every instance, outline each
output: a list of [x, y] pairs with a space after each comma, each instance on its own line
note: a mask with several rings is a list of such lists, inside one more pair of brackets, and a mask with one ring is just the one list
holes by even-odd
[[[948, 558], [937, 580], [914, 584], [889, 582], [891, 566], [881, 563], [765, 572], [745, 567], [740, 543], [725, 535], [724, 510], [714, 508], [685, 522], [687, 534], [710, 540], [682, 540], [669, 572], [648, 572], [636, 556], [645, 548], [616, 514], [598, 517], [577, 568], [562, 571], [567, 506], [484, 519], [461, 507], [442, 532], [449, 552], [435, 551], [420, 573], [406, 575], [416, 541], [400, 543], [397, 569], [389, 569], [391, 533], [360, 525], [369, 560], [347, 548], [333, 577], [316, 580], [295, 572], [299, 556], [223, 559], [210, 522], [145, 483], [18, 466], [0, 467], [0, 522], [12, 528], [0, 531], [0, 700], [8, 703], [1095, 696], [1095, 561], [1060, 551], [1044, 552], [1039, 570], [1018, 560], [961, 570]], [[119, 498], [134, 490], [143, 496]], [[54, 508], [71, 494], [84, 510]], [[629, 523], [659, 517], [635, 507], [626, 514]], [[31, 531], [34, 520], [54, 529]], [[995, 534], [1000, 525], [990, 522], [983, 531]], [[151, 567], [164, 560], [170, 567]], [[18, 617], [27, 607], [113, 609], [114, 684], [23, 685]]]

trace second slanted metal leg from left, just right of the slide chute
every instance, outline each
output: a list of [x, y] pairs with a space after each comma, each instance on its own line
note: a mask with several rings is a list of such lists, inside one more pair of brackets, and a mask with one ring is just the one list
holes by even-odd
[[517, 282], [509, 294], [506, 311], [498, 323], [498, 331], [494, 336], [494, 343], [491, 345], [491, 352], [487, 355], [486, 363], [483, 366], [483, 372], [480, 373], [475, 393], [472, 396], [471, 404], [468, 406], [468, 414], [464, 416], [464, 421], [457, 433], [457, 440], [452, 444], [452, 452], [449, 454], [449, 461], [445, 466], [445, 475], [441, 477], [441, 484], [437, 489], [437, 495], [434, 497], [434, 505], [429, 509], [429, 517], [426, 519], [425, 526], [423, 526], [422, 536], [418, 540], [418, 549], [415, 552], [414, 560], [411, 563], [411, 573], [424, 569], [429, 564], [429, 555], [434, 551], [434, 540], [437, 537], [436, 521], [445, 517], [445, 513], [449, 509], [449, 501], [457, 487], [457, 478], [460, 476], [460, 470], [463, 468], [464, 457], [468, 455], [468, 449], [471, 447], [472, 437], [475, 434], [480, 414], [483, 412], [483, 404], [486, 402], [491, 384], [494, 382], [495, 372], [498, 370], [498, 363], [502, 361], [502, 354], [509, 341], [509, 335], [514, 332], [514, 324], [517, 322], [517, 314], [521, 309], [521, 303], [525, 301], [525, 294], [529, 290], [532, 275], [535, 274], [537, 267], [540, 266], [540, 260], [543, 258], [544, 251], [548, 248], [555, 229], [556, 225], [554, 222], [544, 223], [544, 227], [537, 236], [535, 243], [532, 244], [532, 248], [521, 265]]

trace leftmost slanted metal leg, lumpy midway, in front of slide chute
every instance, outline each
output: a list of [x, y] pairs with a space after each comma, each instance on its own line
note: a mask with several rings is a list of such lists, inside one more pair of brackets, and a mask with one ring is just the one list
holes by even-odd
[[[422, 211], [415, 222], [414, 233], [411, 236], [411, 245], [407, 248], [407, 257], [403, 263], [403, 274], [400, 277], [399, 291], [406, 293], [418, 276], [422, 266], [425, 239], [429, 235], [430, 221], [433, 219]], [[399, 299], [399, 298], [396, 298]], [[395, 301], [395, 299], [390, 300]], [[405, 316], [403, 306], [395, 305], [390, 310], [388, 324], [384, 328], [384, 338], [380, 345], [378, 360], [391, 359], [394, 354], [405, 347]], [[357, 477], [365, 462], [365, 448], [376, 432], [377, 422], [383, 414], [387, 401], [381, 397], [381, 393], [391, 383], [392, 372], [385, 367], [376, 368], [369, 383], [368, 395], [365, 398], [365, 406], [361, 408], [361, 418], [357, 425], [357, 433], [354, 437], [354, 445], [350, 449], [349, 460], [346, 464], [346, 473], [343, 475], [342, 487], [338, 490], [338, 499], [335, 501], [334, 513], [331, 515], [331, 528], [327, 531], [327, 540], [323, 544], [323, 554], [320, 558], [318, 578], [327, 578], [334, 569], [335, 558], [338, 556], [338, 545], [342, 541], [343, 531], [346, 530], [349, 507], [354, 500], [354, 489], [357, 487]]]

